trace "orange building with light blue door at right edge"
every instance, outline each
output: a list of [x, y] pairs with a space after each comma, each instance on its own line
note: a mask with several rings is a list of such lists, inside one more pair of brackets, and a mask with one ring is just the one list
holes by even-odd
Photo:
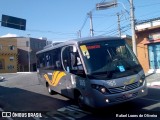
[[160, 72], [160, 18], [136, 25], [137, 56], [145, 72]]

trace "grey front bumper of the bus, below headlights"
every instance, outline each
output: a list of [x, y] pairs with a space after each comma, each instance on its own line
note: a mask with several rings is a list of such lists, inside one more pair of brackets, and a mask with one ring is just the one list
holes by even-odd
[[147, 95], [148, 89], [146, 86], [141, 86], [136, 89], [117, 94], [105, 95], [96, 90], [93, 90], [93, 93], [92, 97], [85, 98], [85, 103], [91, 107], [107, 107], [143, 97]]

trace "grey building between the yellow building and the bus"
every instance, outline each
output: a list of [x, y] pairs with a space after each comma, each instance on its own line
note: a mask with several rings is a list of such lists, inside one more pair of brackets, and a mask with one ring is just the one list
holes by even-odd
[[17, 38], [19, 72], [36, 71], [36, 52], [46, 46], [46, 41], [37, 38]]

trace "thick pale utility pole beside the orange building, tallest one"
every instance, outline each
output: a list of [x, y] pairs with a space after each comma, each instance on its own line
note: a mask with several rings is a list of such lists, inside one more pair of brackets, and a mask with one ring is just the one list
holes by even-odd
[[132, 46], [133, 46], [133, 52], [137, 56], [133, 0], [129, 0], [129, 2], [130, 2], [130, 20], [131, 20], [131, 32], [132, 32]]

